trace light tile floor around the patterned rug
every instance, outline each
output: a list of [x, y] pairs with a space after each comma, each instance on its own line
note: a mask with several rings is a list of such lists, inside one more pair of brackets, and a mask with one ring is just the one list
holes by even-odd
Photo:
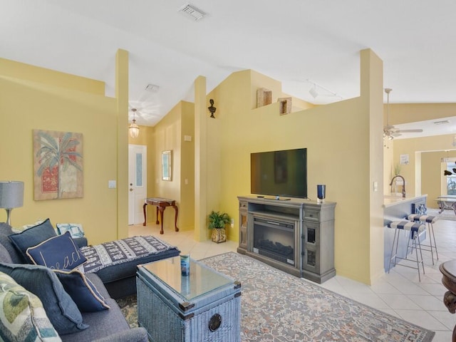
[[[384, 311], [405, 321], [435, 331], [433, 342], [451, 341], [456, 315], [450, 314], [443, 304], [447, 291], [442, 285], [439, 265], [456, 259], [456, 221], [440, 219], [434, 224], [435, 239], [439, 260], [432, 266], [430, 252], [423, 252], [425, 275], [408, 267], [396, 266], [372, 286], [353, 281], [343, 276], [334, 276], [321, 284], [326, 289], [347, 296], [375, 309]], [[152, 234], [178, 247], [182, 252], [190, 252], [193, 259], [203, 259], [225, 252], [235, 252], [237, 242], [227, 241], [215, 244], [210, 240], [196, 242], [193, 232], [169, 232], [160, 235], [155, 224], [130, 226], [130, 236]]]

